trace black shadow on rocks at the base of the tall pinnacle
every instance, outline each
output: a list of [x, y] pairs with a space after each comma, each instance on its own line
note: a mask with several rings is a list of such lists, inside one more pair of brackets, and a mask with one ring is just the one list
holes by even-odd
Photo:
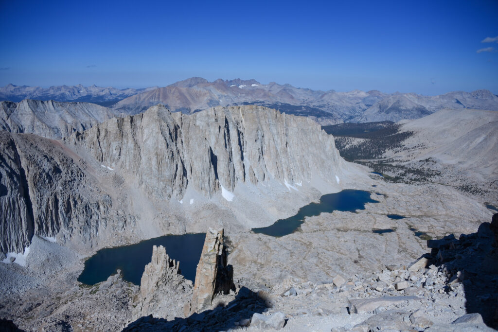
[[254, 313], [263, 313], [266, 308], [268, 305], [264, 297], [258, 296], [249, 288], [242, 287], [235, 299], [226, 306], [195, 313], [187, 318], [177, 317], [172, 321], [154, 318], [152, 315], [141, 317], [130, 323], [123, 331], [225, 331], [235, 328], [236, 322], [250, 320]]

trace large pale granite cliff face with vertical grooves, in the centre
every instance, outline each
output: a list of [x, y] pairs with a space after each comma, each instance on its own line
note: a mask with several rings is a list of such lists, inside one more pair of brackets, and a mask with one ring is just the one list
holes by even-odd
[[65, 142], [136, 177], [157, 199], [182, 200], [187, 186], [211, 198], [220, 190], [232, 192], [238, 182], [330, 179], [344, 166], [334, 138], [314, 121], [258, 106], [185, 115], [158, 105], [110, 119]]

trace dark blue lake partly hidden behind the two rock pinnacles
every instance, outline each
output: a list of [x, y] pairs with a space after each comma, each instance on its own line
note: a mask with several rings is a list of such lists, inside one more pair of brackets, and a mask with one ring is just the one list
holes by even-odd
[[143, 269], [152, 257], [152, 246], [162, 245], [169, 257], [180, 261], [181, 274], [194, 282], [205, 238], [205, 233], [165, 235], [131, 245], [101, 249], [87, 259], [78, 281], [95, 285], [120, 269], [124, 280], [140, 285]]

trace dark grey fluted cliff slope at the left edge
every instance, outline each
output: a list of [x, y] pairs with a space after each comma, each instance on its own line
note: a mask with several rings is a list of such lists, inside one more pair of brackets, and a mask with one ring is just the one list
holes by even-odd
[[110, 219], [116, 231], [125, 226], [85, 163], [58, 141], [0, 131], [0, 149], [0, 255], [22, 252], [33, 234], [91, 245]]

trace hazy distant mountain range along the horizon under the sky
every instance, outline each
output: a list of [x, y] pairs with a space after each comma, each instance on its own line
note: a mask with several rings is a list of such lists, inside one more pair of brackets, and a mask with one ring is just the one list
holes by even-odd
[[189, 114], [215, 106], [258, 105], [288, 114], [308, 116], [321, 124], [415, 119], [442, 109], [498, 111], [498, 96], [488, 90], [423, 96], [398, 92], [385, 94], [376, 90], [320, 91], [241, 79], [209, 82], [200, 77], [162, 88], [137, 90], [96, 86], [85, 88], [81, 85], [48, 89], [12, 85], [0, 88], [0, 99], [20, 101], [25, 98], [93, 102], [111, 107], [115, 114], [126, 115], [143, 112], [157, 104], [173, 112]]

